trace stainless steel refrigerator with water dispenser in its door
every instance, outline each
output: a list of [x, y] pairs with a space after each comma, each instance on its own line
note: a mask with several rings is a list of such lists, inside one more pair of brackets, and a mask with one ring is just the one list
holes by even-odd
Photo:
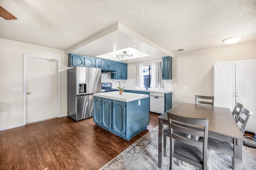
[[68, 116], [75, 121], [93, 117], [93, 93], [101, 92], [101, 69], [74, 67], [67, 76]]

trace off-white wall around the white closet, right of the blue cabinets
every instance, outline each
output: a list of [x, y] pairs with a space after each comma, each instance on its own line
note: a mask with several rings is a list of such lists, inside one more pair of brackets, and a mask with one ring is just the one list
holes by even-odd
[[[214, 63], [256, 59], [256, 42], [176, 54], [172, 58], [172, 107], [194, 103], [195, 95], [214, 95]], [[187, 86], [187, 90], [183, 90]]]

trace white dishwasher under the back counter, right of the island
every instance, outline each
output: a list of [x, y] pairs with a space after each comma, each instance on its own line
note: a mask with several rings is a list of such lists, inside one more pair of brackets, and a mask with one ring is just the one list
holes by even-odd
[[164, 113], [164, 93], [150, 93], [150, 112]]

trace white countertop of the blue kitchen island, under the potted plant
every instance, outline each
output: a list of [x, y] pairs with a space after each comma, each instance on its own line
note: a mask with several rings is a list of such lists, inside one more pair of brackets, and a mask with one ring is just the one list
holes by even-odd
[[134, 100], [139, 100], [139, 99], [144, 99], [149, 97], [149, 95], [143, 95], [138, 93], [127, 93], [127, 92], [123, 92], [122, 95], [119, 95], [119, 91], [112, 91], [112, 92], [106, 92], [106, 93], [94, 93], [93, 96], [117, 100], [117, 101], [124, 101], [124, 102], [129, 102], [129, 101], [134, 101]]

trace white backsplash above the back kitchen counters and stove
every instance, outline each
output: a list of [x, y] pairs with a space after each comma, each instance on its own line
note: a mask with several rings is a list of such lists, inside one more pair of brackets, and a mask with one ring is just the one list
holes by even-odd
[[[126, 88], [135, 88], [135, 79], [127, 79], [127, 80], [115, 80], [111, 79], [111, 74], [101, 73], [101, 82], [102, 83], [112, 83], [112, 88], [117, 89], [119, 86], [118, 81], [120, 81], [122, 87]], [[172, 90], [172, 80], [162, 80], [162, 88]]]

